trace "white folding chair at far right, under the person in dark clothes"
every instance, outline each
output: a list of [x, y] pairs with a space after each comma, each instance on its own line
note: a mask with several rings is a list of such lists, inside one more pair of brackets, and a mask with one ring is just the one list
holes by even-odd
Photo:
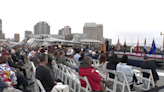
[[[155, 83], [154, 83], [152, 71], [150, 69], [141, 69], [140, 71], [142, 72], [141, 80], [144, 83], [144, 85], [141, 86], [140, 89], [142, 89], [142, 90], [149, 90], [150, 89], [150, 85], [152, 85], [152, 87], [155, 88]], [[143, 73], [149, 74], [149, 78], [144, 77]]]

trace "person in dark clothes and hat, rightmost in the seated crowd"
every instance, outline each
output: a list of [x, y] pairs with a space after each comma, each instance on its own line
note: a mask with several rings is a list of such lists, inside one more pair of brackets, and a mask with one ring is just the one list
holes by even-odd
[[[143, 57], [143, 61], [144, 62], [141, 63], [141, 68], [142, 69], [150, 69], [152, 71], [154, 82], [156, 84], [157, 80], [159, 80], [159, 76], [156, 71], [155, 63], [153, 61], [149, 61], [149, 57], [146, 55]], [[149, 74], [147, 74], [147, 73], [143, 73], [143, 76], [149, 78]]]

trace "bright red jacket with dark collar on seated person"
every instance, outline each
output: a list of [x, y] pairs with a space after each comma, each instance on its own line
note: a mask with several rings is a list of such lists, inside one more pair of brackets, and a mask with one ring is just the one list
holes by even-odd
[[[82, 61], [80, 63], [80, 67], [79, 67], [79, 75], [84, 77], [86, 76], [92, 90], [94, 91], [99, 91], [101, 90], [101, 77], [99, 76], [99, 74], [95, 71], [95, 68], [91, 67], [87, 62]], [[81, 86], [86, 87], [86, 82], [83, 80], [81, 81]]]

